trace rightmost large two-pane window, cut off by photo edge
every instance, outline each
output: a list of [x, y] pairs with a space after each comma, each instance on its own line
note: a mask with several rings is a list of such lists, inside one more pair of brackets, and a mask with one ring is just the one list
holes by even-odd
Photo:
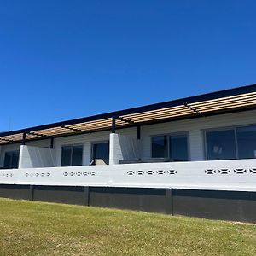
[[206, 132], [207, 160], [256, 158], [256, 125]]

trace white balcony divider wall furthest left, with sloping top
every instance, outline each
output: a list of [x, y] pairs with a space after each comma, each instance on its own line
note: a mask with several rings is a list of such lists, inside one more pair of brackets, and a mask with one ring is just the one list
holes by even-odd
[[55, 150], [21, 145], [19, 168], [54, 167]]

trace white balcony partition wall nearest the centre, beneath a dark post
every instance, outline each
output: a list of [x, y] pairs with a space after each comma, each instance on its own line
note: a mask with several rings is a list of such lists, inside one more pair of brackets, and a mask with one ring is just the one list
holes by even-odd
[[134, 160], [141, 157], [140, 140], [136, 137], [111, 133], [109, 140], [109, 164], [119, 164], [119, 160]]

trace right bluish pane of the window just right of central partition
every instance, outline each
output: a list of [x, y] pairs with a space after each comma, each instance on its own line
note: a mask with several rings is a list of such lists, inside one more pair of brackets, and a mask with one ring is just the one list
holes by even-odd
[[188, 160], [188, 143], [186, 135], [171, 136], [170, 142], [170, 158], [174, 161]]

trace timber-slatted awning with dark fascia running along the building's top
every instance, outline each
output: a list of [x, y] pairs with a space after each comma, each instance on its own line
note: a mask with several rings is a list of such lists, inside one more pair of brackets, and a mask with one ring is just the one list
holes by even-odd
[[246, 109], [256, 109], [256, 84], [88, 118], [3, 132], [0, 133], [0, 145], [20, 143], [24, 133], [26, 133], [26, 141], [30, 141], [93, 131], [109, 131], [113, 125], [113, 118], [116, 128], [125, 128], [134, 125], [154, 124], [165, 120], [207, 117], [207, 115]]

